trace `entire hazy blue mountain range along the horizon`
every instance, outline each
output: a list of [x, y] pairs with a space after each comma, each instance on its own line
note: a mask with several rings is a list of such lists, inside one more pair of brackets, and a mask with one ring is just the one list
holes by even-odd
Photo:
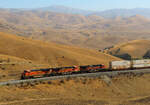
[[134, 15], [142, 15], [145, 17], [150, 17], [150, 9], [149, 8], [134, 8], [134, 9], [111, 9], [105, 11], [91, 11], [91, 10], [82, 10], [77, 8], [71, 8], [66, 6], [49, 6], [38, 8], [34, 10], [40, 11], [50, 11], [57, 13], [65, 13], [65, 14], [80, 14], [80, 15], [97, 15], [104, 18], [116, 18], [116, 17], [131, 17]]

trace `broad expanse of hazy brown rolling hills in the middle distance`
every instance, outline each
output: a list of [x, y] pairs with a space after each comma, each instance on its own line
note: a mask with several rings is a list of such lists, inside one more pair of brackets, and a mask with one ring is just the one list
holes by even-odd
[[0, 9], [2, 32], [93, 49], [150, 39], [149, 23], [150, 19], [140, 15], [106, 19], [96, 15]]

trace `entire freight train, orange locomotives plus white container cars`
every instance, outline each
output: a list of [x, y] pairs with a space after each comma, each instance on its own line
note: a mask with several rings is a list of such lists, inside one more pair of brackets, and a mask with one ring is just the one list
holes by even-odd
[[72, 67], [60, 67], [60, 68], [47, 68], [36, 70], [24, 70], [21, 75], [21, 79], [42, 78], [57, 75], [67, 75], [75, 73], [91, 73], [100, 71], [113, 71], [113, 70], [134, 70], [150, 68], [150, 60], [132, 60], [132, 61], [111, 61], [109, 68], [106, 68], [104, 64], [98, 65], [85, 65], [85, 66], [72, 66]]

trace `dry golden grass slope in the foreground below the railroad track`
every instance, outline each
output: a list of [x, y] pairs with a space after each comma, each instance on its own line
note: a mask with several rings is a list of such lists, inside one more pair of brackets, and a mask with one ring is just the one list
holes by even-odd
[[149, 74], [55, 80], [39, 85], [0, 87], [1, 105], [149, 105]]

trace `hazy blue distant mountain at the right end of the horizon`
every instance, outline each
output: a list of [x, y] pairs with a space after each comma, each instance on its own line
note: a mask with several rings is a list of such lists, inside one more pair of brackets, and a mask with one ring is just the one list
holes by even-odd
[[105, 18], [116, 18], [118, 16], [130, 17], [130, 16], [137, 15], [137, 14], [145, 16], [145, 17], [150, 17], [150, 9], [149, 8], [112, 9], [112, 10], [92, 13], [92, 15], [98, 15], [98, 16], [102, 16]]

